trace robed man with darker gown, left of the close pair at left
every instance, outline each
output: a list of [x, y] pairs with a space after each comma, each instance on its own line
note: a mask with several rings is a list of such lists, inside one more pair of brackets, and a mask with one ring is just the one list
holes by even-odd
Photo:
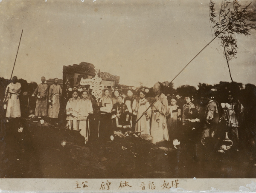
[[32, 97], [37, 97], [35, 116], [47, 116], [47, 94], [48, 86], [45, 84], [45, 77], [41, 77], [42, 83], [38, 85]]

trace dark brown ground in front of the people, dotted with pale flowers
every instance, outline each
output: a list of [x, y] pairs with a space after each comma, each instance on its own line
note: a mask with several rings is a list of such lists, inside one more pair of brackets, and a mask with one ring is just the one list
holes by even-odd
[[248, 147], [226, 153], [213, 145], [175, 149], [172, 142], [153, 145], [136, 136], [85, 144], [61, 124], [41, 125], [35, 118], [1, 124], [1, 178], [256, 178]]

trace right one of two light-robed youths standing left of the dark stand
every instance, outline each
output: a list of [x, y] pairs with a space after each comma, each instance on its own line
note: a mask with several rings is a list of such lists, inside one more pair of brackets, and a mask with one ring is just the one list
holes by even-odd
[[87, 99], [88, 95], [89, 92], [87, 90], [82, 91], [82, 98], [77, 102], [76, 109], [73, 112], [73, 116], [78, 120], [78, 130], [81, 135], [84, 136], [85, 143], [88, 140], [86, 119], [89, 113], [93, 113], [93, 105], [92, 102]]

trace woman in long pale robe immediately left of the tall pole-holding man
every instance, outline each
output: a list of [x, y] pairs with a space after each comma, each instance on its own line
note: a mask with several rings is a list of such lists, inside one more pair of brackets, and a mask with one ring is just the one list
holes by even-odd
[[[151, 108], [149, 107], [150, 104], [147, 99], [145, 99], [145, 91], [140, 91], [140, 100], [137, 103], [137, 107], [135, 110], [135, 114], [137, 114], [138, 120], [140, 120], [135, 125], [135, 132], [140, 132], [141, 134], [148, 134], [150, 135], [150, 117], [151, 117]], [[149, 107], [149, 108], [148, 108]], [[147, 110], [148, 109], [148, 110]], [[147, 110], [147, 111], [146, 111]]]

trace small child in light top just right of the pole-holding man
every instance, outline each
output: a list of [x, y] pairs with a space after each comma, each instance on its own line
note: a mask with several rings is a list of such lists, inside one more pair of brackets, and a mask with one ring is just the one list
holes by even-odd
[[[168, 106], [168, 114], [167, 114], [167, 128], [169, 131], [169, 137], [176, 139], [178, 134], [178, 121], [181, 121], [181, 110], [177, 104], [177, 98], [173, 94], [170, 97], [170, 102]], [[172, 140], [171, 140], [172, 141]]]

